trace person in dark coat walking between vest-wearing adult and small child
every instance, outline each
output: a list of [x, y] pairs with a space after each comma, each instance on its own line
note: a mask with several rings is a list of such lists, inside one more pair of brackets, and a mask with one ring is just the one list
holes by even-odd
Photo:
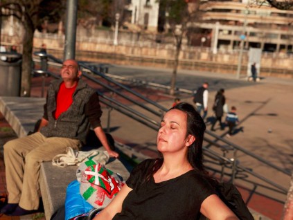
[[213, 104], [213, 111], [215, 112], [215, 121], [213, 122], [213, 125], [211, 127], [212, 131], [215, 131], [215, 123], [217, 121], [220, 122], [220, 128], [221, 130], [224, 130], [224, 126], [222, 124], [222, 116], [224, 113], [223, 107], [226, 102], [226, 98], [224, 96], [224, 89], [220, 89], [217, 91], [217, 94], [215, 95], [215, 102]]

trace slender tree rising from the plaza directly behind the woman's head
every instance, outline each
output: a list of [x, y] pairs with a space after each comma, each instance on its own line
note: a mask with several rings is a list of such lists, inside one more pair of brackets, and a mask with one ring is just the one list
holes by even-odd
[[170, 82], [170, 95], [175, 94], [177, 69], [182, 41], [190, 34], [191, 24], [199, 19], [199, 1], [163, 0], [160, 8], [166, 13], [166, 31], [171, 33], [175, 44], [175, 59]]

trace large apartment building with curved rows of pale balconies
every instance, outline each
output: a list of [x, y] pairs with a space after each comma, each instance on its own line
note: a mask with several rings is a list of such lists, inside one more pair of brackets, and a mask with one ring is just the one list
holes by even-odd
[[[252, 1], [206, 1], [202, 3], [204, 22], [210, 30], [211, 46], [217, 48], [261, 48], [268, 52], [292, 51], [293, 10], [278, 10]], [[255, 1], [254, 1], [255, 2]]]

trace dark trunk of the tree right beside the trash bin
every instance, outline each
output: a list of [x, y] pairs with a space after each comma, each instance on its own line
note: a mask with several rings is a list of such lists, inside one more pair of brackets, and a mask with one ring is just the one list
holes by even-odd
[[33, 33], [34, 28], [30, 26], [29, 21], [24, 21], [24, 50], [22, 53], [22, 64], [21, 64], [21, 96], [30, 96], [30, 77], [32, 71], [32, 53], [33, 53]]

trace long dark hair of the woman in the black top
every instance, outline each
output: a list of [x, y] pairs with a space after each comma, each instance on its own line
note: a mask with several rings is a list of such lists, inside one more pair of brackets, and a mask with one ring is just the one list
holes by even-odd
[[[192, 104], [186, 102], [180, 102], [175, 107], [172, 107], [168, 111], [172, 109], [177, 109], [179, 111], [183, 111], [186, 113], [187, 127], [186, 127], [186, 137], [191, 134], [195, 136], [195, 141], [192, 145], [188, 147], [187, 158], [190, 165], [192, 165], [193, 169], [197, 170], [197, 172], [202, 174], [207, 174], [203, 165], [203, 155], [202, 155], [202, 143], [204, 140], [204, 131], [206, 130], [206, 125], [202, 117], [197, 113]], [[168, 112], [167, 111], [167, 112]], [[153, 167], [150, 169], [148, 174], [146, 175], [147, 181], [150, 179], [150, 176], [157, 172], [157, 170], [163, 164], [163, 158], [159, 158], [156, 163], [154, 163]]]

